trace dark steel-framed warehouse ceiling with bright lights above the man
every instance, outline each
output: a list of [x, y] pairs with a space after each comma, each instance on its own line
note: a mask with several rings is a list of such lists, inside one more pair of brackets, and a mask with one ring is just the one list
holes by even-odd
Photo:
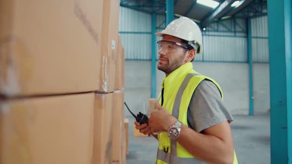
[[[200, 27], [231, 17], [254, 17], [267, 14], [267, 0], [214, 0], [215, 8], [201, 4], [202, 0], [174, 0], [175, 17], [186, 16]], [[232, 4], [237, 1], [236, 6]], [[121, 0], [120, 5], [146, 13], [165, 14], [166, 0]]]

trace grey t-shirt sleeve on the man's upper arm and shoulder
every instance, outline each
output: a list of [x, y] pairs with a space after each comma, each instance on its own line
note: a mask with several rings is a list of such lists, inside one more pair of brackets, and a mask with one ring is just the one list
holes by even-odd
[[203, 80], [195, 88], [187, 117], [189, 126], [197, 132], [224, 121], [233, 121], [222, 101], [220, 90], [209, 80]]

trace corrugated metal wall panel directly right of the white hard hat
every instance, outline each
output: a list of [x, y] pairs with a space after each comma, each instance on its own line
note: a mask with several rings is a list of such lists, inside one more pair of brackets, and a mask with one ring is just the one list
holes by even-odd
[[198, 61], [246, 62], [244, 19], [227, 19], [211, 24], [203, 33], [203, 54]]

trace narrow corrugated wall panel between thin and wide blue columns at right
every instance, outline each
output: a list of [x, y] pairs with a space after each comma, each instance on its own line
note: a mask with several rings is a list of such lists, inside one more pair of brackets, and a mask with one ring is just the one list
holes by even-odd
[[253, 62], [269, 62], [268, 16], [251, 19], [251, 48]]

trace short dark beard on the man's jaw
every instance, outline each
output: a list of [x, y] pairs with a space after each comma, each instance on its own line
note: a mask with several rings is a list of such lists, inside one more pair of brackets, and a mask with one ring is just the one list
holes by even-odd
[[169, 59], [160, 56], [160, 58], [165, 59], [166, 61], [158, 62], [157, 69], [164, 72], [165, 74], [170, 74], [177, 68], [179, 68], [181, 65], [183, 65], [183, 60], [185, 58], [185, 55], [181, 55], [180, 57], [174, 59], [172, 63], [169, 63]]

